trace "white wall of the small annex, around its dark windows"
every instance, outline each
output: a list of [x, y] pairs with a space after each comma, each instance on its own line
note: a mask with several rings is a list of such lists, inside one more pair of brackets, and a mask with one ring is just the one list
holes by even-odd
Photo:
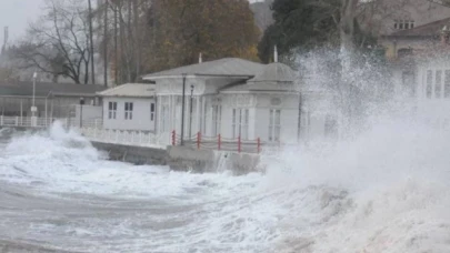
[[[109, 119], [109, 102], [117, 102], [116, 119]], [[126, 120], [124, 103], [132, 102], [132, 119]], [[150, 104], [154, 99], [138, 98], [104, 98], [103, 100], [103, 128], [118, 130], [143, 130], [154, 131], [157, 113], [153, 120], [150, 119]], [[157, 108], [156, 108], [157, 110]]]

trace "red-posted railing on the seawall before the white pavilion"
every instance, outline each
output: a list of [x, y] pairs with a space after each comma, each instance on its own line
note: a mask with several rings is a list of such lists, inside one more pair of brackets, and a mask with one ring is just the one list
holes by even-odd
[[[172, 145], [181, 144], [181, 136], [171, 132], [171, 143]], [[204, 136], [200, 132], [192, 136], [184, 136], [183, 144], [186, 146], [191, 146], [198, 150], [220, 150], [220, 151], [232, 151], [238, 153], [261, 153], [263, 145], [278, 146], [278, 143], [261, 142], [260, 138], [256, 140], [244, 140], [241, 136], [237, 139], [227, 139], [221, 134], [217, 136]]]

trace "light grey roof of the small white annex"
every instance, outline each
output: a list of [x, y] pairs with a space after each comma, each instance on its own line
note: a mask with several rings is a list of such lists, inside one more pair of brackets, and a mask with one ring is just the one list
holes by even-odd
[[101, 97], [152, 98], [154, 84], [126, 83], [98, 93]]

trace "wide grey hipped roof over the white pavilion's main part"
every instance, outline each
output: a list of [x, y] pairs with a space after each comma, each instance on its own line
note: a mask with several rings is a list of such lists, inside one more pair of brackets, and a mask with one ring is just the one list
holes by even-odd
[[260, 72], [263, 67], [264, 64], [239, 58], [224, 58], [147, 74], [143, 79], [151, 80], [161, 77], [178, 77], [182, 74], [252, 78], [256, 73]]

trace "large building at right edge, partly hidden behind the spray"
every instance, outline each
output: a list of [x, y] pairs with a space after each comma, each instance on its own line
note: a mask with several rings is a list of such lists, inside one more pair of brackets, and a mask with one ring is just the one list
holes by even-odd
[[[450, 126], [450, 8], [428, 3], [432, 20], [382, 36], [397, 95], [412, 102], [416, 112], [438, 125]], [[447, 13], [447, 18], [442, 18]], [[417, 19], [421, 20], [421, 19]]]

